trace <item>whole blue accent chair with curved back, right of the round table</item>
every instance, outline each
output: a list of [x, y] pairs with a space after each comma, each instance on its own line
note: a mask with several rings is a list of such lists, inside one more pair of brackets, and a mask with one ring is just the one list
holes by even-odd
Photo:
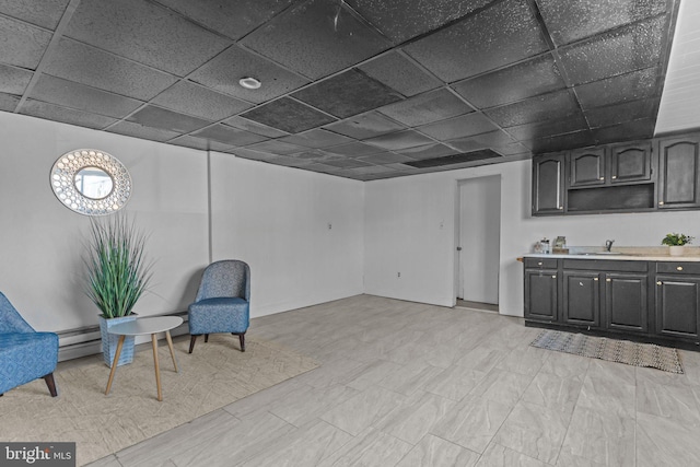
[[213, 332], [238, 336], [245, 352], [245, 331], [250, 322], [250, 268], [244, 261], [225, 259], [207, 266], [199, 284], [197, 299], [189, 305], [189, 353], [197, 336], [205, 342]]

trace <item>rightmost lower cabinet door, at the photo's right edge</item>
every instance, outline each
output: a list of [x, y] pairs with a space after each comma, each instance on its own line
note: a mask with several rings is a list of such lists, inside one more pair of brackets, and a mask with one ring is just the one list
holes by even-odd
[[698, 338], [700, 278], [656, 276], [656, 332]]

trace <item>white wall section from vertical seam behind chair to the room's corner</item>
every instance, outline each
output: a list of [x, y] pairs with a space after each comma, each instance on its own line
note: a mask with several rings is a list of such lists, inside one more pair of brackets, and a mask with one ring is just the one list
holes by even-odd
[[211, 174], [213, 259], [248, 262], [252, 316], [362, 293], [361, 182], [215, 153]]

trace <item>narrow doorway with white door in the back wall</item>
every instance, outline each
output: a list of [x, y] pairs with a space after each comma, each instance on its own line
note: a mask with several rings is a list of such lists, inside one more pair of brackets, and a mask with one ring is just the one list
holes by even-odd
[[501, 176], [459, 180], [457, 186], [457, 304], [498, 311]]

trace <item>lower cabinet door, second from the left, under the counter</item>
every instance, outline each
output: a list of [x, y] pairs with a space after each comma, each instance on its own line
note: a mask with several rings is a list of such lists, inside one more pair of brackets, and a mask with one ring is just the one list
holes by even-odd
[[600, 285], [593, 271], [563, 271], [562, 322], [600, 326]]

